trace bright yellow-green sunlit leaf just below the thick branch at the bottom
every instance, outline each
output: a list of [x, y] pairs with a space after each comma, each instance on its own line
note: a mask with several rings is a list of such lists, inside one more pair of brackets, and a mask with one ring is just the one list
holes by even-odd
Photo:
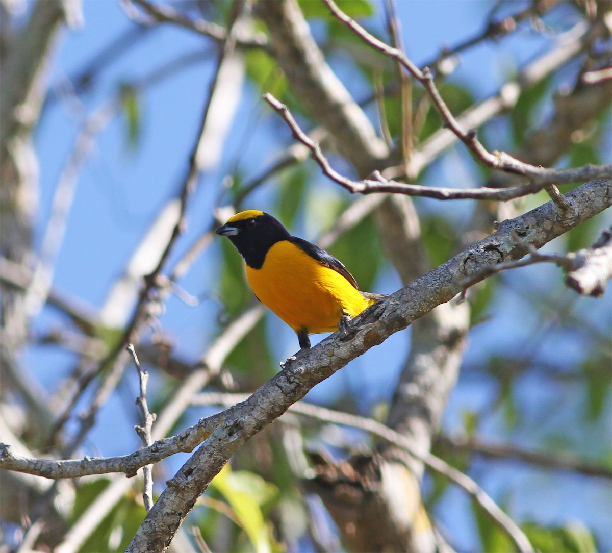
[[230, 465], [225, 465], [213, 478], [211, 487], [229, 503], [257, 553], [278, 551], [278, 544], [272, 539], [261, 510], [266, 502], [278, 497], [274, 484], [264, 481], [255, 473], [232, 472]]

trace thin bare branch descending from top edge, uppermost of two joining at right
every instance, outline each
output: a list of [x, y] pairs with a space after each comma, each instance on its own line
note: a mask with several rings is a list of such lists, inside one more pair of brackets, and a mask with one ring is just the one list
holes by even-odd
[[[424, 70], [420, 70], [406, 57], [403, 51], [398, 50], [398, 48], [390, 47], [383, 41], [370, 34], [362, 26], [360, 26], [359, 23], [348, 17], [346, 13], [340, 10], [335, 4], [334, 0], [324, 0], [324, 2], [327, 4], [327, 7], [329, 7], [332, 14], [338, 18], [338, 20], [344, 23], [349, 29], [353, 30], [371, 47], [400, 62], [402, 66], [408, 70], [412, 77], [416, 78], [424, 86], [446, 126], [452, 130], [453, 134], [455, 134], [455, 136], [457, 136], [457, 138], [466, 145], [474, 157], [476, 157], [476, 159], [483, 165], [495, 170], [525, 176], [529, 178], [532, 181], [531, 184], [534, 185], [555, 183], [566, 184], [569, 182], [577, 182], [577, 180], [581, 181], [584, 179], [612, 177], [612, 165], [604, 166], [603, 168], [594, 168], [587, 165], [578, 169], [548, 169], [521, 162], [506, 152], [495, 151], [491, 153], [487, 151], [482, 143], [480, 143], [480, 141], [476, 138], [476, 132], [472, 130], [466, 132], [463, 130], [463, 127], [461, 127], [460, 123], [452, 115], [449, 107], [446, 105], [446, 102], [444, 102], [444, 99], [442, 99], [431, 72], [427, 67], [425, 67]], [[577, 171], [586, 172], [577, 173]], [[383, 189], [379, 191], [386, 192], [387, 190]]]

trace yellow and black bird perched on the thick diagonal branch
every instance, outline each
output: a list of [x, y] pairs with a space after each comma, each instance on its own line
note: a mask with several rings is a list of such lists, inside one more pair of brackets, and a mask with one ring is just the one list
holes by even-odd
[[300, 351], [308, 334], [334, 332], [383, 295], [360, 292], [357, 281], [333, 255], [291, 236], [263, 211], [241, 211], [217, 234], [240, 252], [253, 292], [296, 331]]

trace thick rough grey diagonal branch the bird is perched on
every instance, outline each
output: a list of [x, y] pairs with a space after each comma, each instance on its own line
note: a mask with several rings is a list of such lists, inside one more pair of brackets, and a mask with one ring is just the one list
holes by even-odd
[[[597, 190], [597, 194], [595, 194]], [[352, 337], [332, 334], [265, 383], [244, 403], [226, 410], [223, 421], [195, 454], [168, 481], [127, 551], [163, 551], [212, 478], [239, 448], [317, 383], [351, 359], [406, 328], [435, 306], [461, 292], [458, 281], [482, 266], [524, 255], [510, 231], [526, 243], [541, 247], [556, 236], [612, 205], [612, 183], [588, 182], [567, 196], [575, 214], [567, 218], [550, 201], [506, 221], [498, 231], [451, 258], [405, 288], [365, 310], [351, 323]], [[547, 224], [543, 225], [542, 222]]]

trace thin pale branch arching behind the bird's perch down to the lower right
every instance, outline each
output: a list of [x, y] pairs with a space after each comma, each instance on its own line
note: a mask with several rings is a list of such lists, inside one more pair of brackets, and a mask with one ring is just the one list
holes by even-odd
[[[245, 394], [203, 393], [193, 398], [193, 405], [233, 405], [237, 401], [245, 401], [247, 398], [248, 396]], [[507, 534], [510, 540], [517, 546], [518, 551], [533, 551], [527, 536], [521, 532], [517, 524], [499, 508], [493, 499], [487, 495], [487, 492], [485, 492], [482, 487], [468, 475], [450, 466], [439, 457], [429, 452], [419, 453], [416, 451], [414, 443], [410, 438], [407, 438], [399, 432], [395, 432], [393, 429], [390, 429], [388, 426], [374, 419], [319, 407], [319, 405], [309, 404], [304, 401], [291, 405], [288, 408], [288, 412], [315, 418], [325, 423], [342, 424], [343, 426], [359, 428], [377, 438], [381, 438], [382, 440], [386, 440], [386, 442], [399, 446], [412, 457], [427, 465], [430, 470], [444, 476], [444, 478], [447, 478], [447, 480], [466, 491], [470, 497], [476, 501], [480, 508], [491, 517], [494, 524], [496, 524], [502, 532]]]

